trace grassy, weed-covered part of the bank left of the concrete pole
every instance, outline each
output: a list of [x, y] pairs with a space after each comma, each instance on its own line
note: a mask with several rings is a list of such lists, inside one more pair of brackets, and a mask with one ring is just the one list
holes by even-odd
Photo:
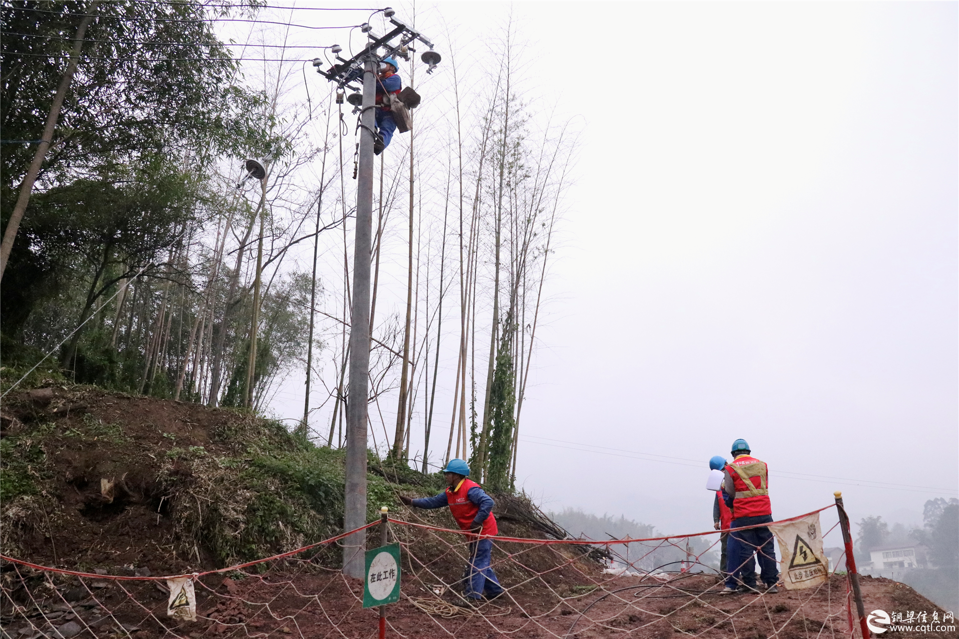
[[[98, 504], [100, 479], [114, 474], [126, 478], [118, 492], [124, 516], [136, 521], [148, 510], [157, 523], [164, 517], [163, 543], [170, 544], [164, 548], [191, 565], [204, 556], [221, 566], [269, 557], [342, 531], [343, 450], [313, 445], [281, 422], [238, 409], [148, 403], [144, 413], [127, 407], [118, 416], [99, 403], [112, 405], [117, 396], [99, 389], [72, 386], [55, 393], [50, 405], [24, 398], [7, 408], [19, 425], [0, 439], [0, 512], [16, 513], [5, 515], [12, 523], [0, 526], [0, 546], [26, 543], [30, 531], [16, 526], [29, 520], [43, 528], [48, 513], [68, 529], [71, 517], [86, 516], [73, 502]], [[64, 402], [78, 410], [55, 412]], [[181, 422], [195, 427], [175, 430]], [[384, 466], [373, 452], [368, 463], [368, 520], [379, 517], [381, 506], [395, 510], [398, 492], [423, 496], [444, 488], [440, 473]], [[73, 499], [69, 509], [63, 495]], [[37, 510], [34, 502], [41, 499], [48, 503]], [[332, 559], [336, 550], [317, 553], [330, 552]], [[23, 546], [23, 552], [31, 549]]]

